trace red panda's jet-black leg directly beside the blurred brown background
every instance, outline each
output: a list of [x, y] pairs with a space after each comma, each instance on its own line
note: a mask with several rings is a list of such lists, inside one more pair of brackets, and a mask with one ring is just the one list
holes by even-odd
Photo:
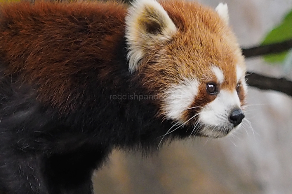
[[108, 155], [107, 151], [100, 150], [84, 145], [66, 154], [50, 156], [44, 172], [50, 193], [93, 194], [92, 174]]

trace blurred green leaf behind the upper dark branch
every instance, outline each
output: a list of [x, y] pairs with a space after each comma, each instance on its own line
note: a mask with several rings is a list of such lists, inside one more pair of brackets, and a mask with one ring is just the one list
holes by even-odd
[[[292, 10], [284, 17], [281, 24], [267, 34], [262, 45], [278, 43], [284, 40], [292, 39]], [[270, 54], [264, 57], [267, 62], [282, 62], [286, 58], [288, 52], [279, 54]]]

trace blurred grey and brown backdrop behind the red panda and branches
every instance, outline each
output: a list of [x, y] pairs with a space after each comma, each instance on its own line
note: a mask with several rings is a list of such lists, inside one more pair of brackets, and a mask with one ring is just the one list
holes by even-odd
[[[215, 8], [222, 0], [199, 0]], [[223, 0], [240, 45], [260, 44], [292, 0]], [[291, 25], [292, 28], [292, 25]], [[292, 80], [290, 68], [247, 59], [249, 71]], [[292, 193], [292, 98], [249, 88], [241, 129], [218, 140], [165, 144], [159, 153], [113, 151], [93, 176], [96, 194]]]

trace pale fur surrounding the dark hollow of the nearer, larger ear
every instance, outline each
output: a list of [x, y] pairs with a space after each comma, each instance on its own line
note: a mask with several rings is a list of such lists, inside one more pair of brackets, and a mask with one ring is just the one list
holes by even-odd
[[[141, 27], [139, 19], [145, 16], [145, 9], [151, 8], [160, 17], [161, 26], [165, 26], [159, 35], [149, 34]], [[147, 15], [145, 18], [154, 17]], [[153, 21], [158, 21], [154, 19]], [[125, 18], [126, 28], [125, 37], [128, 44], [127, 58], [129, 60], [129, 71], [133, 73], [139, 66], [139, 61], [145, 55], [145, 46], [152, 40], [160, 41], [168, 40], [177, 31], [173, 21], [168, 16], [164, 8], [155, 0], [137, 0], [132, 3], [128, 9], [128, 15]]]

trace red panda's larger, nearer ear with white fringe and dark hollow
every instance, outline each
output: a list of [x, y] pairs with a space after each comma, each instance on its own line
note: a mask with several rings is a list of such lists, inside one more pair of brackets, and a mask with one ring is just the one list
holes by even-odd
[[137, 0], [128, 9], [126, 41], [128, 44], [129, 71], [133, 73], [145, 55], [145, 49], [171, 38], [177, 31], [164, 8], [155, 0]]

